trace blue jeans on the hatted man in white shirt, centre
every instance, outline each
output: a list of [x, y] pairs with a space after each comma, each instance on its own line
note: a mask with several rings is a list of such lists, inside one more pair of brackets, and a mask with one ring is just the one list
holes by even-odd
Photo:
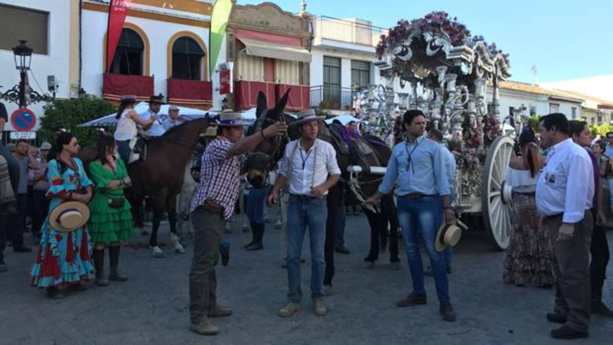
[[299, 303], [302, 299], [300, 289], [300, 256], [302, 240], [307, 226], [311, 245], [311, 299], [323, 297], [321, 292], [326, 273], [324, 244], [326, 242], [326, 218], [328, 217], [326, 198], [300, 198], [290, 195], [287, 204], [287, 298]]

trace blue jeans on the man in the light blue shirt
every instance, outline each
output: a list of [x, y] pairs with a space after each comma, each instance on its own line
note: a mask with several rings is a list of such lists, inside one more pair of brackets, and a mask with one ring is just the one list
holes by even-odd
[[398, 196], [398, 223], [405, 239], [406, 256], [409, 262], [413, 292], [425, 294], [424, 266], [419, 254], [419, 234], [421, 229], [424, 247], [428, 252], [432, 273], [436, 284], [436, 295], [440, 302], [449, 301], [447, 267], [442, 253], [434, 248], [438, 226], [443, 221], [440, 211], [440, 198], [426, 196], [421, 199], [408, 199]]

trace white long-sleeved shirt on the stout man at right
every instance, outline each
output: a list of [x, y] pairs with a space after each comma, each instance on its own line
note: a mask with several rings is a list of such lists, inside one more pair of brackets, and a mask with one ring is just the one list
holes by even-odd
[[536, 184], [539, 213], [563, 213], [564, 223], [577, 223], [592, 208], [593, 196], [593, 166], [587, 151], [572, 139], [551, 147]]

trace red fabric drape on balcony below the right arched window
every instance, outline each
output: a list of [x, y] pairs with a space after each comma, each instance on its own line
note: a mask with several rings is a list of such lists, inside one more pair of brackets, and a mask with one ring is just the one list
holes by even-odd
[[168, 101], [186, 105], [211, 105], [213, 83], [202, 80], [169, 79]]

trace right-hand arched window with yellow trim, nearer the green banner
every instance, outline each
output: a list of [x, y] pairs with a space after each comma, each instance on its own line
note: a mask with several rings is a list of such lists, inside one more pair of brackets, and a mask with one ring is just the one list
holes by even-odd
[[191, 37], [179, 37], [172, 45], [172, 78], [200, 80], [204, 51]]

